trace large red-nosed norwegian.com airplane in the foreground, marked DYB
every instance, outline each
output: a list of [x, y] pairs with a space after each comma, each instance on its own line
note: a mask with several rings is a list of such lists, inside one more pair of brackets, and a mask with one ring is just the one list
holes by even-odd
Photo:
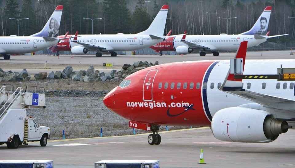
[[232, 72], [230, 60], [165, 63], [137, 71], [110, 91], [104, 104], [130, 120], [130, 127], [153, 132], [149, 144], [161, 142], [160, 125], [207, 126], [223, 141], [272, 142], [295, 124], [294, 81], [265, 75], [252, 79], [251, 74], [277, 75], [281, 65], [294, 69], [295, 60], [245, 61], [246, 50], [247, 41], [241, 42], [235, 56], [240, 72]]

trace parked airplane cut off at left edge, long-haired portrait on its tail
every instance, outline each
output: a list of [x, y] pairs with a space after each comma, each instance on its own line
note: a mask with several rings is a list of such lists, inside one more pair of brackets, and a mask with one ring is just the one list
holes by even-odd
[[44, 28], [31, 36], [10, 35], [0, 37], [0, 54], [4, 59], [10, 59], [9, 54], [24, 54], [39, 51], [55, 45], [60, 40], [58, 35], [63, 6], [58, 5]]

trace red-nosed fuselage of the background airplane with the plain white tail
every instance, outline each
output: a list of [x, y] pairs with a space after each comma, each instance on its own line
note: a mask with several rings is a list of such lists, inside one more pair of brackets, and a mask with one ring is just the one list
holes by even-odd
[[[68, 35], [71, 37], [73, 35]], [[89, 51], [98, 51], [98, 46], [102, 47], [102, 52], [113, 52], [113, 51], [133, 51], [141, 48], [146, 48], [151, 45], [157, 44], [163, 39], [152, 39], [149, 35], [136, 35], [136, 34], [115, 34], [115, 35], [78, 35], [77, 41], [85, 43], [89, 46], [85, 46]], [[59, 36], [61, 37], [61, 36]], [[163, 36], [164, 38], [164, 36]], [[71, 40], [63, 40], [57, 44], [54, 50], [57, 51], [71, 51], [74, 46], [80, 46]]]

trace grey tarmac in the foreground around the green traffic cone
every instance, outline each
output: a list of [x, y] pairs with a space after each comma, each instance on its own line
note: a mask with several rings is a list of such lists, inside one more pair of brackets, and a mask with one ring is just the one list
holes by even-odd
[[[130, 129], [130, 132], [131, 129]], [[100, 160], [159, 160], [161, 168], [295, 167], [295, 130], [271, 143], [231, 143], [216, 139], [209, 128], [160, 132], [160, 145], [149, 145], [148, 134], [86, 139], [50, 140], [18, 149], [0, 146], [0, 160], [46, 159], [54, 167], [94, 167]], [[197, 164], [200, 151], [206, 164]]]

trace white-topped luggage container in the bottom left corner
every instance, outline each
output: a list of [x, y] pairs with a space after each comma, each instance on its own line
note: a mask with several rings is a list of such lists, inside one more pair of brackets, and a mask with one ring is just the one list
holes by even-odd
[[0, 168], [53, 168], [53, 160], [0, 160]]

